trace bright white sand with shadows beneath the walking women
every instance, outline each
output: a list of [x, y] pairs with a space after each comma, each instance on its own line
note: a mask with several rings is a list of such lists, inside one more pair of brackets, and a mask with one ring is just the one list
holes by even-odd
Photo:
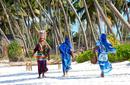
[[73, 62], [68, 77], [62, 77], [58, 65], [49, 65], [46, 78], [38, 79], [37, 66], [26, 71], [25, 66], [0, 65], [0, 85], [130, 85], [130, 62], [113, 63], [113, 70], [100, 77], [98, 64]]

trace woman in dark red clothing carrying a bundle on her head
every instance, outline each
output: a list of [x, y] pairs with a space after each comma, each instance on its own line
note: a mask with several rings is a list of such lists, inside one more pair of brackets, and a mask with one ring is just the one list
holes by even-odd
[[35, 54], [37, 52], [36, 57], [37, 57], [37, 63], [38, 63], [38, 74], [39, 74], [38, 78], [41, 78], [41, 74], [42, 74], [42, 77], [45, 77], [44, 73], [48, 71], [47, 58], [48, 60], [50, 60], [50, 57], [49, 57], [50, 48], [48, 47], [48, 45], [46, 45], [45, 33], [46, 33], [45, 31], [40, 32], [39, 43], [36, 45], [34, 49], [34, 53], [33, 53]]

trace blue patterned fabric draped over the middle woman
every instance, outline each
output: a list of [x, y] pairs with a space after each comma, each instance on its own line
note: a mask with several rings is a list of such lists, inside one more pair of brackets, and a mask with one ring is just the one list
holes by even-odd
[[63, 72], [67, 72], [69, 69], [71, 69], [71, 49], [72, 45], [69, 41], [69, 38], [66, 37], [65, 42], [62, 43], [59, 47], [62, 59]]

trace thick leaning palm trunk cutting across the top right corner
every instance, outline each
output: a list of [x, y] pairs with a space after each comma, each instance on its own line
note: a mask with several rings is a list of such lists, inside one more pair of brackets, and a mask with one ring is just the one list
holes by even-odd
[[116, 7], [112, 4], [112, 2], [110, 0], [107, 0], [107, 4], [110, 7], [110, 9], [112, 10], [112, 12], [121, 20], [121, 22], [130, 31], [130, 24], [124, 20], [124, 18], [122, 17], [122, 15], [120, 14], [120, 12], [116, 9]]

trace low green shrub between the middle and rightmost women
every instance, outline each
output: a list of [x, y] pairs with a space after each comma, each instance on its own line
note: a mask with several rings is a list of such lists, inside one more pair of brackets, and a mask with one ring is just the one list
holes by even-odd
[[76, 57], [76, 62], [82, 63], [82, 62], [90, 60], [92, 57], [93, 57], [92, 51], [87, 50], [87, 51], [83, 52], [82, 54], [80, 54], [79, 56]]

